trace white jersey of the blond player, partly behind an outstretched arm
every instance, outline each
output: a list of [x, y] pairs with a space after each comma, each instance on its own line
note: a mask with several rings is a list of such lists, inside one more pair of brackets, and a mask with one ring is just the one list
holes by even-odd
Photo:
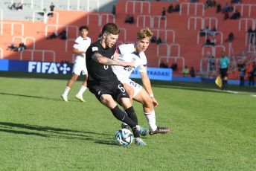
[[[144, 52], [136, 54], [133, 44], [119, 45], [117, 48], [119, 57], [117, 61], [132, 62], [134, 61], [135, 68], [138, 67], [139, 72], [147, 72], [147, 57]], [[120, 65], [112, 65], [112, 70], [118, 77], [118, 80], [129, 78], [129, 75], [135, 69], [133, 67], [124, 67]], [[122, 82], [122, 81], [121, 81]]]

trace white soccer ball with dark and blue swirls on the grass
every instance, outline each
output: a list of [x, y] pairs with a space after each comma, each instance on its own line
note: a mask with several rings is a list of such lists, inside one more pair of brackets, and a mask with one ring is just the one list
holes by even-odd
[[132, 143], [133, 135], [129, 129], [119, 129], [115, 133], [115, 143], [119, 146], [129, 146]]

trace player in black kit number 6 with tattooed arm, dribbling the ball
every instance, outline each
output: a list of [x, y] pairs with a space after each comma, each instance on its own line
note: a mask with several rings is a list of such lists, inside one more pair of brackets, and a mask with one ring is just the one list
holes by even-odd
[[[113, 60], [120, 30], [115, 23], [107, 23], [102, 28], [102, 38], [92, 43], [86, 51], [86, 67], [88, 70], [87, 87], [112, 114], [122, 122], [127, 123], [135, 138], [135, 144], [145, 146], [140, 135], [147, 135], [148, 129], [138, 125], [135, 111], [129, 101], [129, 95], [123, 84], [118, 80], [109, 65], [133, 66], [132, 62], [118, 62]], [[116, 57], [116, 56], [115, 56]], [[125, 109], [123, 112], [117, 103]]]

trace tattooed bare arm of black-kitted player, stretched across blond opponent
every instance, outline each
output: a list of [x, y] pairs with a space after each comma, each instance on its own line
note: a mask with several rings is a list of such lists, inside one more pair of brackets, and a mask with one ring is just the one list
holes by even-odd
[[121, 66], [134, 66], [133, 62], [120, 62], [115, 61], [113, 59], [109, 59], [107, 57], [103, 57], [101, 54], [94, 54], [92, 55], [92, 59], [94, 59], [96, 62], [103, 64], [103, 65], [121, 65]]

